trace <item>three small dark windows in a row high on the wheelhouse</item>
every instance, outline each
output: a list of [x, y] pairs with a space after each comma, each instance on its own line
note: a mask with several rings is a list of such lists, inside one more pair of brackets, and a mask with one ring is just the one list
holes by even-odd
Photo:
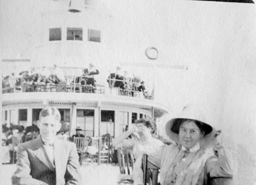
[[[61, 28], [49, 29], [49, 41], [61, 40]], [[67, 40], [83, 40], [83, 29], [77, 27], [67, 28]], [[88, 41], [100, 42], [100, 30], [88, 29]]]

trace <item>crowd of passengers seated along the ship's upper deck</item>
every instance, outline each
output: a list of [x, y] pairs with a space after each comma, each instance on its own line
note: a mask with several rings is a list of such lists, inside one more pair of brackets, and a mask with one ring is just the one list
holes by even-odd
[[[91, 93], [94, 93], [96, 87], [94, 75], [99, 75], [99, 73], [99, 70], [91, 63], [71, 83], [80, 84], [82, 92], [87, 92], [88, 87], [91, 87]], [[107, 82], [109, 87], [121, 89], [122, 95], [135, 96], [136, 92], [140, 92], [145, 98], [153, 96], [152, 94], [148, 94], [145, 82], [140, 77], [129, 77], [128, 72], [122, 72], [119, 66], [116, 67], [115, 72], [109, 74]], [[56, 87], [56, 91], [68, 91], [68, 86], [70, 87], [70, 84], [68, 84], [63, 71], [56, 64], [54, 64], [52, 71], [43, 67], [42, 70], [35, 70], [32, 73], [21, 71], [19, 77], [15, 77], [15, 73], [2, 77], [3, 93], [13, 93], [13, 91], [17, 90], [22, 92], [41, 91], [40, 87], [44, 87], [45, 89]]]

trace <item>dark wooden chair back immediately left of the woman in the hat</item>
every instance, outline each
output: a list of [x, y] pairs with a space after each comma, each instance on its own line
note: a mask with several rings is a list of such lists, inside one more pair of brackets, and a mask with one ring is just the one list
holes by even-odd
[[152, 173], [152, 185], [157, 185], [157, 179], [158, 179], [158, 174], [159, 174], [159, 167], [150, 162], [152, 160], [149, 159], [150, 156], [147, 154], [143, 154], [142, 158], [142, 168], [143, 168], [143, 182], [146, 185], [148, 182], [148, 179], [150, 178], [149, 172]]

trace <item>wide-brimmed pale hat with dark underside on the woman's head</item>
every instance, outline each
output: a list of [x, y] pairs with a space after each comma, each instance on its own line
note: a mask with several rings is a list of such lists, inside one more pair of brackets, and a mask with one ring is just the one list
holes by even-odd
[[202, 128], [205, 132], [204, 137], [200, 140], [200, 147], [211, 147], [213, 137], [216, 134], [216, 129], [214, 129], [211, 119], [209, 119], [210, 116], [207, 117], [207, 115], [205, 114], [206, 113], [202, 110], [198, 110], [198, 108], [195, 108], [191, 105], [184, 107], [182, 113], [179, 116], [172, 118], [168, 122], [166, 122], [166, 135], [168, 135], [168, 137], [170, 137], [171, 140], [173, 140], [177, 144], [180, 144], [179, 127], [182, 123], [182, 119], [199, 121], [202, 123]]

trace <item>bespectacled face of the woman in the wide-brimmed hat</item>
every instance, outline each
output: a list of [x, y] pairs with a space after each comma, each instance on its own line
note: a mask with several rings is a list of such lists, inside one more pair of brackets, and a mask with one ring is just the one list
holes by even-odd
[[203, 137], [202, 132], [194, 121], [182, 122], [179, 128], [179, 141], [186, 149], [191, 149]]

